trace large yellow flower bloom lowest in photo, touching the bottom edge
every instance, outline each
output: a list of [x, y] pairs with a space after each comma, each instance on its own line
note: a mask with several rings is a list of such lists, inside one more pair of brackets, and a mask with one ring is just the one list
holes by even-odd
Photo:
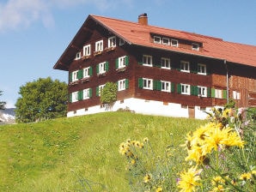
[[199, 177], [200, 171], [196, 167], [191, 167], [188, 171], [183, 171], [180, 173], [180, 181], [178, 182], [178, 188], [180, 192], [192, 192], [196, 190], [197, 186], [201, 183]]

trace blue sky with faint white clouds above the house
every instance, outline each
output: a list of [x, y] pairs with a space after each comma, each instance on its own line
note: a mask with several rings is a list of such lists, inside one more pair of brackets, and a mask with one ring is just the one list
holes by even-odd
[[142, 13], [149, 25], [256, 45], [255, 0], [0, 0], [0, 100], [13, 107], [39, 78], [67, 82], [52, 67], [89, 14], [137, 22]]

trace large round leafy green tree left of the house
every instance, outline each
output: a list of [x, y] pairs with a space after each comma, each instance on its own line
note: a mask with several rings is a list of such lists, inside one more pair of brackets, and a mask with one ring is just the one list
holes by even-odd
[[21, 98], [16, 101], [17, 123], [28, 123], [65, 117], [67, 111], [67, 84], [50, 77], [27, 82], [20, 87]]

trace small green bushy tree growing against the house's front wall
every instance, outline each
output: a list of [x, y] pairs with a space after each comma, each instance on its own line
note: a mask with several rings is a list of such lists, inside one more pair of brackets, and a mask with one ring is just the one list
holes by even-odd
[[117, 84], [114, 82], [107, 82], [101, 90], [101, 103], [108, 104], [112, 109], [113, 103], [117, 100]]

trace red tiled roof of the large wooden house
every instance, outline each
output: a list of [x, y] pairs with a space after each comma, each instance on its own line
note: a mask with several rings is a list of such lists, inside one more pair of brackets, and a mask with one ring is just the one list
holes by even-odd
[[[124, 39], [128, 44], [131, 45], [142, 45], [201, 57], [213, 57], [226, 60], [230, 63], [240, 63], [243, 65], [256, 67], [256, 46], [254, 45], [232, 43], [196, 33], [187, 33], [164, 27], [142, 25], [138, 22], [123, 21], [98, 15], [88, 15], [87, 20], [83, 23], [82, 27], [76, 33], [74, 39], [70, 42], [70, 45], [58, 59], [58, 62], [54, 65], [54, 69], [68, 70], [68, 66], [77, 52], [73, 45], [76, 46], [77, 42], [82, 41], [82, 36], [85, 36], [85, 33], [87, 33], [87, 31], [84, 29], [91, 19], [97, 23], [100, 23], [103, 27], [106, 27], [109, 31], [113, 32], [119, 38]], [[201, 43], [203, 44], [203, 49], [200, 51], [193, 51], [170, 45], [155, 44], [149, 40], [151, 34], [160, 34], [162, 36], [167, 36], [174, 39], [186, 39], [195, 43]], [[73, 57], [70, 58], [71, 55], [73, 55]]]

